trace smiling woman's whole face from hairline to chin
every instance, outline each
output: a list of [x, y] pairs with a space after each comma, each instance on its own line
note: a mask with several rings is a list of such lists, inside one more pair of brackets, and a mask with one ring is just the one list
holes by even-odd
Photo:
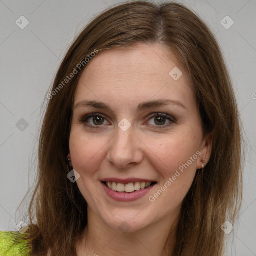
[[76, 87], [69, 144], [89, 216], [127, 231], [177, 217], [210, 150], [185, 72], [160, 44], [90, 60]]

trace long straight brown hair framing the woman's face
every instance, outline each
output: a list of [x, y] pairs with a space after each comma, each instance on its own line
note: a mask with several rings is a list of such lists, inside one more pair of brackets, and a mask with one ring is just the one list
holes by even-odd
[[[182, 203], [174, 255], [223, 255], [220, 226], [226, 220], [233, 223], [241, 202], [241, 132], [231, 81], [214, 36], [192, 11], [178, 3], [148, 1], [120, 4], [94, 18], [58, 69], [41, 128], [38, 178], [29, 206], [27, 232], [34, 255], [50, 248], [52, 256], [75, 256], [75, 239], [87, 224], [87, 203], [66, 177], [73, 96], [86, 68], [85, 62], [77, 65], [95, 50], [140, 42], [161, 43], [175, 52], [194, 86], [203, 132], [212, 132], [210, 159]], [[66, 81], [74, 69], [77, 73]]]

